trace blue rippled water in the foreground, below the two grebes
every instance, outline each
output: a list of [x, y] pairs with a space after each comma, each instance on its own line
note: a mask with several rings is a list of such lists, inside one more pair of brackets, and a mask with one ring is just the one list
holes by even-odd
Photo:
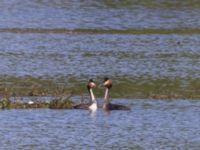
[[125, 100], [131, 111], [3, 110], [2, 149], [191, 149], [200, 146], [200, 102]]

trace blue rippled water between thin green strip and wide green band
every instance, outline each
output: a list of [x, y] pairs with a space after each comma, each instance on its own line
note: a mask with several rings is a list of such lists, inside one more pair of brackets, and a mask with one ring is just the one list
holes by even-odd
[[200, 76], [199, 35], [0, 35], [8, 75]]

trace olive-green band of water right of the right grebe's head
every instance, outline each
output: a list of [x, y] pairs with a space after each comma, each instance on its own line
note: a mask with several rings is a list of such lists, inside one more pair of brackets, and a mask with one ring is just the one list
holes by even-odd
[[113, 78], [111, 97], [142, 99], [200, 99], [200, 80], [182, 78]]

